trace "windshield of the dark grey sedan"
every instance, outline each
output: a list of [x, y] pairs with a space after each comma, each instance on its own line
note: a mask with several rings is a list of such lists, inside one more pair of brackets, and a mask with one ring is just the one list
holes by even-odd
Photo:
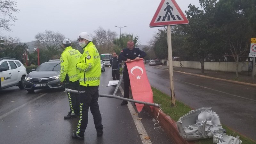
[[42, 63], [35, 71], [60, 71], [60, 62]]

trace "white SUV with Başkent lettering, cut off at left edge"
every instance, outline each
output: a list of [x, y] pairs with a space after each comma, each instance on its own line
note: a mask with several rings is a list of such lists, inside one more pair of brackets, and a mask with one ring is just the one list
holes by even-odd
[[15, 58], [0, 59], [0, 90], [15, 85], [19, 86], [21, 90], [24, 89], [23, 83], [26, 75], [26, 68], [20, 60]]

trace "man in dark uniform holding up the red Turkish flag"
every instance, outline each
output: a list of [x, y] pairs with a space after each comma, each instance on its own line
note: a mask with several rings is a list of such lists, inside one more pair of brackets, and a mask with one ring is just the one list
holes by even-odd
[[[140, 58], [144, 58], [146, 56], [146, 52], [141, 51], [139, 48], [134, 48], [134, 43], [132, 40], [127, 42], [127, 48], [122, 50], [119, 55], [119, 60], [124, 60], [127, 62], [132, 62], [132, 60], [139, 60]], [[127, 70], [126, 63], [124, 64], [123, 71], [124, 78], [124, 98], [129, 98], [129, 87], [130, 87], [130, 79]], [[121, 106], [126, 105], [128, 102], [123, 100]]]

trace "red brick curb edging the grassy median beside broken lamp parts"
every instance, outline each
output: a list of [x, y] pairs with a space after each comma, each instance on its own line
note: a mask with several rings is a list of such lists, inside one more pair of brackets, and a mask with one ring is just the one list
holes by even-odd
[[[153, 111], [147, 105], [144, 108], [148, 111], [148, 113], [156, 119], [159, 108], [153, 107]], [[158, 121], [161, 127], [164, 129], [164, 132], [176, 143], [176, 144], [194, 144], [193, 141], [188, 141], [183, 139], [178, 131], [178, 127], [176, 122], [168, 115], [166, 115], [162, 110], [159, 112]]]

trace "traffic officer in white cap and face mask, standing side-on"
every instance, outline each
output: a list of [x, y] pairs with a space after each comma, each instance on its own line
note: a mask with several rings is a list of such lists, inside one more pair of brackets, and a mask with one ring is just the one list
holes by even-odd
[[88, 124], [89, 108], [93, 116], [97, 136], [102, 136], [103, 134], [103, 125], [101, 124], [101, 114], [98, 104], [101, 66], [99, 52], [92, 43], [88, 33], [80, 33], [77, 40], [84, 53], [76, 64], [80, 83], [78, 90], [80, 119], [76, 132], [72, 134], [72, 138], [84, 140], [84, 131]]

